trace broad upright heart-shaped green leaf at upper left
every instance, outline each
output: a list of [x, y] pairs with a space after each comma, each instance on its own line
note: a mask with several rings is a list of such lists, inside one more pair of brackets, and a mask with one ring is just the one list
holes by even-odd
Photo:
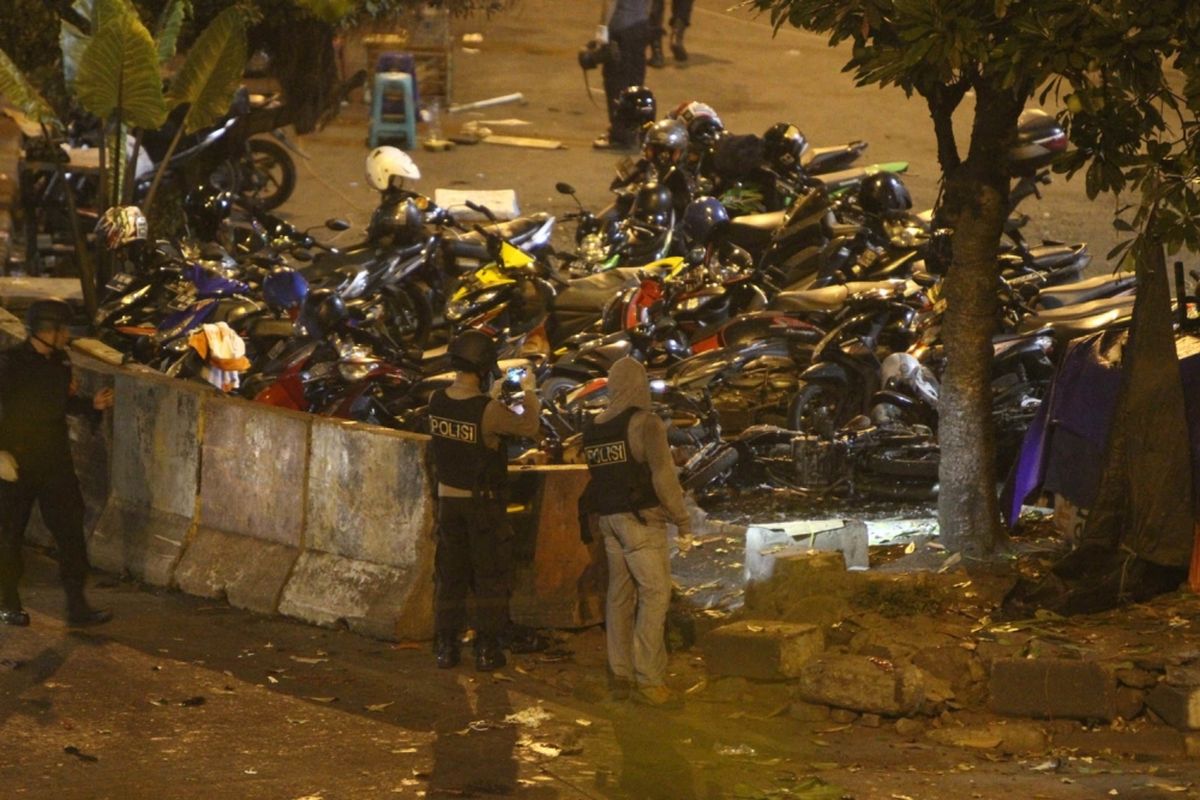
[[102, 120], [116, 113], [132, 127], [157, 128], [167, 119], [158, 54], [133, 14], [109, 19], [91, 37], [74, 90], [79, 104]]

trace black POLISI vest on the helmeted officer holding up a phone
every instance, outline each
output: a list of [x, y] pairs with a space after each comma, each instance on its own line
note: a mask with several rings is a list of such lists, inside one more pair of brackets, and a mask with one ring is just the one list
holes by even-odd
[[430, 434], [438, 481], [474, 494], [494, 495], [504, 488], [508, 465], [503, 450], [484, 444], [486, 395], [454, 399], [445, 391], [430, 398]]

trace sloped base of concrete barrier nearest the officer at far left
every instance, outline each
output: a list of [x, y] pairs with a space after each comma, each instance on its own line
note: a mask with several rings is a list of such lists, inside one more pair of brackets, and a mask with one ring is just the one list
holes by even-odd
[[191, 517], [110, 498], [88, 540], [88, 557], [97, 570], [169, 587], [191, 528]]

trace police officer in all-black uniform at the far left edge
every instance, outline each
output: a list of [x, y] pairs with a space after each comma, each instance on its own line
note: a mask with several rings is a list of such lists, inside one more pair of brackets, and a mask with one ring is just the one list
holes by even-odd
[[17, 584], [24, 570], [22, 545], [36, 503], [59, 551], [67, 595], [67, 622], [97, 625], [112, 619], [84, 596], [88, 549], [83, 495], [71, 462], [67, 415], [97, 416], [113, 404], [113, 390], [91, 399], [76, 395], [71, 377], [71, 307], [40, 300], [29, 308], [29, 339], [0, 353], [0, 624], [29, 625]]

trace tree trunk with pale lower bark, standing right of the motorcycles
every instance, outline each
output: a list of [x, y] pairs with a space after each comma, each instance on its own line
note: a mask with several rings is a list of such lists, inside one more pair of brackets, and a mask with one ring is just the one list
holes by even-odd
[[1004, 154], [1020, 110], [1010, 91], [977, 86], [970, 152], [946, 180], [954, 258], [943, 283], [947, 362], [938, 405], [937, 513], [946, 546], [968, 557], [990, 554], [1000, 531], [991, 337], [997, 319], [996, 253], [1008, 217]]

